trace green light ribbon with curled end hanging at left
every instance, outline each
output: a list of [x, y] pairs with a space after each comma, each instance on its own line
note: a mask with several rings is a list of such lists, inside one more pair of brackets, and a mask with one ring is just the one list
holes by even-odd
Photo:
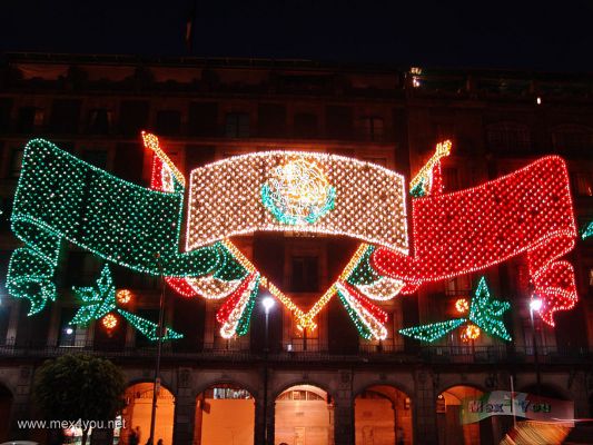
[[12, 231], [26, 247], [10, 259], [10, 295], [28, 298], [30, 314], [55, 299], [53, 275], [63, 241], [150, 275], [201, 276], [214, 270], [221, 258], [219, 244], [179, 251], [182, 190], [149, 190], [47, 140], [31, 140], [11, 218]]

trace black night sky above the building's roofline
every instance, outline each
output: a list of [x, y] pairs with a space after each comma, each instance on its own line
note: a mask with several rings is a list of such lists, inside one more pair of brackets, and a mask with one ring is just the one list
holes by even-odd
[[593, 71], [593, 1], [2, 0], [0, 50]]

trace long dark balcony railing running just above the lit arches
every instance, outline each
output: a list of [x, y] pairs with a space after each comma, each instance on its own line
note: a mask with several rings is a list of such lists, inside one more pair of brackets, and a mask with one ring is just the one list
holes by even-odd
[[[201, 359], [211, 362], [352, 362], [352, 363], [426, 363], [426, 364], [526, 364], [535, 362], [531, 347], [508, 347], [506, 345], [492, 346], [425, 346], [415, 350], [404, 350], [399, 346], [362, 344], [357, 352], [332, 353], [320, 349], [317, 344], [307, 350], [271, 352], [267, 356], [263, 352], [251, 350], [249, 344], [233, 344], [230, 347], [213, 343], [205, 344], [201, 350], [181, 349], [175, 344], [164, 345], [162, 356], [171, 360]], [[286, 346], [286, 345], [285, 345]], [[2, 358], [38, 358], [56, 357], [69, 353], [82, 353], [111, 358], [142, 358], [154, 357], [156, 347], [98, 347], [89, 342], [78, 342], [69, 346], [48, 346], [47, 344], [29, 343], [23, 345], [0, 345]], [[593, 349], [587, 348], [537, 348], [537, 359], [541, 364], [581, 364], [593, 360]]]

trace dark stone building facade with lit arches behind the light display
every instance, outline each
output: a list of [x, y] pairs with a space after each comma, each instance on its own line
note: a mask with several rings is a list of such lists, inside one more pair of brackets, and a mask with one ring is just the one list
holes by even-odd
[[[159, 135], [186, 177], [198, 166], [229, 156], [289, 148], [355, 157], [411, 178], [436, 142], [451, 139], [444, 186], [458, 190], [557, 154], [569, 162], [580, 227], [593, 220], [593, 82], [587, 76], [26, 53], [7, 55], [0, 73], [0, 277], [18, 246], [10, 231], [10, 208], [22, 148], [33, 137], [142, 185], [150, 176], [150, 157], [139, 138], [144, 129]], [[512, 301], [511, 344], [486, 336], [471, 346], [453, 336], [421, 344], [397, 334], [402, 327], [437, 320], [452, 301], [473, 291], [480, 274], [429, 285], [383, 305], [391, 320], [383, 342], [360, 339], [339, 301], [319, 314], [316, 332], [305, 333], [279, 305], [265, 332], [264, 313], [256, 308], [250, 333], [227, 340], [218, 334], [215, 303], [168, 291], [166, 319], [186, 337], [164, 349], [161, 385], [174, 399], [168, 421], [172, 433], [166, 443], [202, 443], [202, 406], [214, 406], [217, 396], [200, 395], [223, 394], [225, 388], [235, 392], [230, 398], [250, 395], [254, 444], [279, 443], [274, 438], [290, 417], [276, 416], [279, 400], [297, 403], [298, 397], [325, 403], [328, 422], [315, 431], [291, 426], [290, 445], [360, 445], [373, 443], [372, 437], [375, 444], [394, 443], [402, 435], [406, 444], [498, 443], [511, 426], [508, 419], [463, 429], [452, 425], [447, 406], [458, 405], [451, 400], [464, 390], [510, 390], [511, 379], [517, 390], [572, 400], [576, 418], [591, 417], [592, 243], [579, 241], [569, 255], [580, 301], [559, 314], [554, 329], [530, 320], [521, 260], [485, 271], [492, 291]], [[355, 246], [345, 239], [291, 234], [256, 234], [237, 244], [303, 307], [339, 274]], [[130, 387], [151, 382], [154, 345], [131, 327], [122, 324], [111, 336], [99, 325], [68, 330], [76, 309], [69, 289], [89, 285], [99, 270], [100, 264], [83, 251], [65, 254], [60, 298], [32, 317], [27, 317], [28, 303], [10, 298], [2, 286], [0, 408], [6, 415], [0, 441], [43, 443], [43, 432], [19, 428], [17, 422], [34, 417], [31, 382], [48, 357], [68, 352], [107, 356], [121, 366]], [[158, 279], [117, 270], [116, 283], [132, 290], [134, 312], [156, 319]], [[378, 411], [356, 408], [360, 399], [387, 400], [393, 418], [375, 422]], [[439, 400], [445, 400], [442, 408]], [[120, 443], [126, 443], [126, 434], [121, 432]], [[92, 441], [113, 443], [112, 436], [111, 431], [96, 431]]]

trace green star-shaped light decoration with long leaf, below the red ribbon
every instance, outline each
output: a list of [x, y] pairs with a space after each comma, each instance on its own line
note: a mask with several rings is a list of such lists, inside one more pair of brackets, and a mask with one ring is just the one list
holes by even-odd
[[[475, 339], [476, 336], [480, 335], [480, 330], [483, 330], [486, 334], [511, 342], [511, 335], [508, 335], [503, 320], [503, 314], [510, 308], [511, 304], [508, 301], [492, 298], [486, 284], [486, 278], [482, 277], [477, 284], [475, 295], [472, 298], [467, 317], [432, 323], [429, 325], [413, 326], [399, 329], [399, 334], [423, 342], [434, 342], [467, 323], [467, 328], [464, 333], [465, 337], [462, 335], [462, 338]], [[467, 333], [472, 335], [467, 335]]]

